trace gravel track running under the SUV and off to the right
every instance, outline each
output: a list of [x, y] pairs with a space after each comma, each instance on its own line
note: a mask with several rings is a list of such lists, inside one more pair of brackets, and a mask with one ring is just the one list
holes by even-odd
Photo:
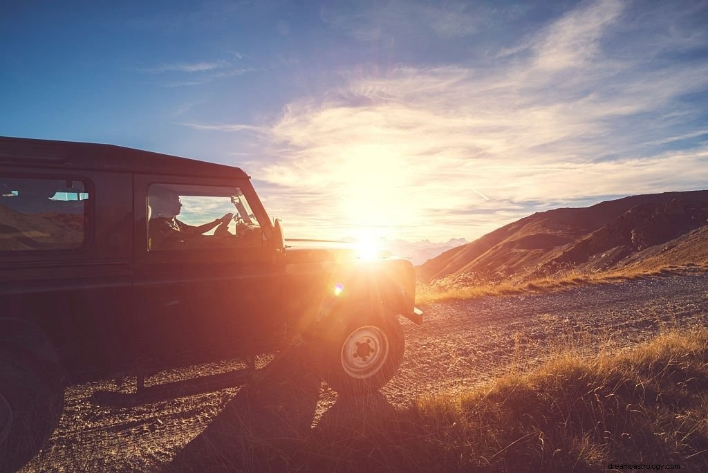
[[[21, 471], [205, 471], [228, 467], [234, 450], [253, 457], [234, 465], [249, 469], [263, 465], [253, 438], [306, 441], [333, 419], [360, 422], [419, 397], [455, 394], [564, 350], [615, 351], [664, 330], [707, 324], [708, 275], [423, 309], [422, 326], [403, 322], [406, 358], [380, 396], [338, 399], [314, 374], [303, 348], [260, 358], [261, 369], [245, 384], [231, 372], [243, 367], [237, 362], [162, 372], [149, 378], [140, 399], [127, 395], [135, 380], [121, 389], [110, 380], [81, 384], [67, 389], [59, 428]], [[196, 375], [210, 377], [188, 381]]]

